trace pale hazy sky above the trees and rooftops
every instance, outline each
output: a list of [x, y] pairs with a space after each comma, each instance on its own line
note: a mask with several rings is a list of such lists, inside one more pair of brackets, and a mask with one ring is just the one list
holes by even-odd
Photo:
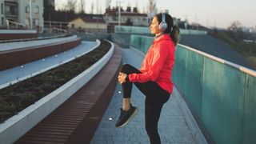
[[[55, 0], [56, 8], [65, 5], [67, 0]], [[80, 0], [77, 0], [80, 1]], [[91, 4], [98, 4], [105, 12], [107, 0], [85, 0], [86, 13], [90, 13]], [[108, 0], [110, 6], [116, 6], [116, 2], [122, 2], [122, 7], [138, 6], [140, 12], [146, 12], [149, 0]], [[198, 22], [203, 26], [227, 28], [231, 22], [239, 21], [242, 26], [256, 26], [256, 0], [155, 0], [158, 12], [169, 10], [169, 14], [175, 18], [181, 18], [192, 22]], [[94, 13], [95, 8], [94, 8]]]

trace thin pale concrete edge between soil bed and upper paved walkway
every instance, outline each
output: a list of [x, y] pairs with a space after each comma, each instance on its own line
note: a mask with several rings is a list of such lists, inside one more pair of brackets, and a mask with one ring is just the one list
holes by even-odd
[[13, 84], [15, 84], [15, 83], [21, 82], [21, 81], [23, 81], [23, 80], [25, 80], [25, 79], [27, 79], [27, 78], [31, 78], [31, 77], [34, 77], [35, 75], [42, 74], [43, 72], [45, 72], [45, 71], [47, 71], [47, 70], [50, 70], [50, 69], [53, 69], [53, 68], [55, 68], [55, 67], [57, 67], [57, 66], [61, 66], [61, 65], [65, 64], [66, 62], [70, 62], [70, 61], [74, 60], [75, 58], [81, 57], [81, 56], [84, 55], [84, 54], [90, 53], [90, 51], [96, 49], [96, 48], [100, 45], [100, 43], [101, 43], [98, 39], [96, 40], [96, 42], [97, 42], [97, 45], [94, 46], [91, 50], [86, 51], [85, 53], [82, 53], [82, 54], [75, 55], [74, 57], [69, 58], [69, 59], [66, 59], [65, 61], [59, 62], [59, 63], [56, 64], [56, 65], [49, 66], [49, 67], [46, 67], [45, 69], [38, 70], [38, 71], [36, 71], [36, 72], [34, 72], [34, 73], [32, 73], [32, 74], [28, 74], [28, 75], [26, 75], [26, 76], [24, 76], [24, 77], [17, 78], [17, 79], [15, 79], [14, 81], [6, 82], [6, 83], [0, 85], [0, 90], [3, 89], [3, 88], [5, 88], [5, 87], [7, 87], [7, 86], [10, 86], [10, 85], [13, 85]]

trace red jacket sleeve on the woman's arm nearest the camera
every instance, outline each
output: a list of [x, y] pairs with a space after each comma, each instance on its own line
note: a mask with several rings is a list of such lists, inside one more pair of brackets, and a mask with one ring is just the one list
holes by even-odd
[[154, 50], [152, 63], [149, 64], [148, 70], [142, 72], [142, 74], [129, 74], [130, 82], [149, 82], [155, 81], [158, 78], [162, 66], [166, 62], [166, 57], [169, 53], [168, 46], [165, 42], [161, 42]]

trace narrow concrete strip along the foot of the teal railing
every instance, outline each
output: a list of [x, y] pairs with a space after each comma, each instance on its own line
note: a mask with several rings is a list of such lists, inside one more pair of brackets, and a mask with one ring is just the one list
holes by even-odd
[[191, 114], [189, 107], [186, 105], [186, 102], [182, 98], [181, 94], [179, 94], [176, 86], [174, 86], [174, 92], [172, 95], [174, 95], [174, 98], [176, 98], [178, 101], [178, 106], [182, 110], [182, 114], [186, 119], [186, 123], [192, 132], [194, 140], [198, 144], [207, 144], [208, 142], [206, 141], [206, 138], [202, 134], [202, 131], [198, 126], [198, 123], [195, 121], [193, 114]]

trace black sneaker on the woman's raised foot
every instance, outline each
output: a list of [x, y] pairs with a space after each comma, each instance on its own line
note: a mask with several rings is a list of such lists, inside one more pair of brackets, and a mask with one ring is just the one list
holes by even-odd
[[138, 108], [130, 105], [130, 110], [122, 110], [120, 117], [118, 118], [118, 122], [115, 123], [116, 127], [123, 127], [130, 122], [131, 118], [134, 118], [134, 116], [138, 114]]

